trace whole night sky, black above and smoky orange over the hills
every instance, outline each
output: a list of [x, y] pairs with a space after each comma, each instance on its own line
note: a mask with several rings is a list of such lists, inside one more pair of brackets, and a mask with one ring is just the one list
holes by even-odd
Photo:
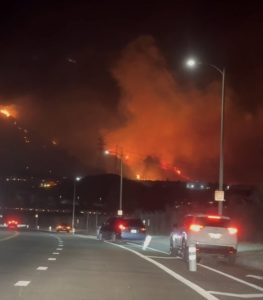
[[102, 137], [134, 153], [131, 177], [180, 169], [182, 178], [217, 180], [220, 75], [186, 70], [195, 55], [227, 70], [226, 180], [262, 183], [257, 2], [8, 1], [0, 104], [87, 165], [98, 161]]

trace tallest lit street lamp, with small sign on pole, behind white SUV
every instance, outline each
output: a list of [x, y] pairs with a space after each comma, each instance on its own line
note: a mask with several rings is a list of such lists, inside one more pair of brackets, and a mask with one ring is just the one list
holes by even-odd
[[190, 68], [196, 67], [196, 65], [207, 65], [222, 76], [222, 90], [221, 90], [221, 121], [220, 121], [220, 154], [219, 154], [219, 187], [218, 191], [215, 191], [215, 200], [218, 201], [218, 214], [222, 215], [223, 213], [223, 201], [224, 199], [224, 110], [225, 110], [225, 68], [220, 69], [215, 65], [204, 64], [202, 62], [197, 62], [195, 59], [188, 59], [186, 65]]

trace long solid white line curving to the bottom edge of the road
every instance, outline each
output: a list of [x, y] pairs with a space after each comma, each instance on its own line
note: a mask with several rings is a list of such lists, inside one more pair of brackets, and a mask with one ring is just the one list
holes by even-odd
[[216, 298], [215, 296], [209, 294], [206, 290], [204, 290], [203, 288], [201, 288], [199, 285], [191, 282], [190, 280], [184, 278], [183, 276], [181, 276], [180, 274], [172, 271], [171, 269], [167, 268], [166, 266], [160, 264], [159, 262], [141, 254], [140, 252], [137, 252], [133, 249], [118, 245], [118, 244], [114, 244], [114, 243], [110, 243], [105, 241], [105, 243], [114, 245], [116, 247], [120, 247], [126, 251], [130, 251], [133, 254], [139, 256], [140, 258], [152, 263], [153, 265], [157, 266], [159, 269], [163, 270], [164, 272], [166, 272], [167, 274], [169, 274], [170, 276], [172, 276], [173, 278], [179, 280], [180, 282], [184, 283], [185, 285], [187, 285], [188, 287], [190, 287], [191, 289], [193, 289], [196, 293], [198, 293], [199, 295], [203, 296], [205, 299], [207, 300], [219, 300], [218, 298]]

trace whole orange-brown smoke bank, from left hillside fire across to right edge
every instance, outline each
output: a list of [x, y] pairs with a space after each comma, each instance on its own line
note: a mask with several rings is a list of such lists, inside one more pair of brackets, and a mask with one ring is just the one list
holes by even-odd
[[[205, 89], [181, 86], [175, 71], [153, 38], [140, 37], [111, 70], [119, 102], [107, 87], [82, 83], [55, 85], [55, 92], [49, 85], [49, 92], [5, 97], [3, 104], [14, 103], [25, 128], [55, 140], [95, 171], [118, 172], [118, 160], [102, 155], [110, 148], [115, 154], [122, 149], [124, 172], [131, 178], [217, 181], [220, 82]], [[227, 84], [225, 182], [262, 183], [263, 111], [249, 114], [238, 103]]]

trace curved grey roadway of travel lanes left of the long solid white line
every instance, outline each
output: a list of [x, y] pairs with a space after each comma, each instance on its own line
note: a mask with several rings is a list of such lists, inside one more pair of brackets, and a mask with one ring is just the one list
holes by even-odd
[[[0, 246], [0, 256], [5, 249], [10, 251], [5, 254], [8, 257], [19, 251], [15, 264], [12, 259], [5, 262], [7, 270], [0, 280], [9, 272], [12, 276], [1, 285], [1, 300], [174, 299], [175, 294], [178, 299], [203, 299], [154, 265], [114, 245], [68, 234], [54, 236], [63, 242], [50, 234], [20, 233], [6, 241], [9, 245]], [[36, 243], [39, 247], [30, 250]], [[27, 251], [30, 260], [23, 259]], [[48, 261], [48, 257], [56, 260]], [[48, 269], [37, 271], [37, 266]], [[28, 285], [14, 286], [19, 281]]]

